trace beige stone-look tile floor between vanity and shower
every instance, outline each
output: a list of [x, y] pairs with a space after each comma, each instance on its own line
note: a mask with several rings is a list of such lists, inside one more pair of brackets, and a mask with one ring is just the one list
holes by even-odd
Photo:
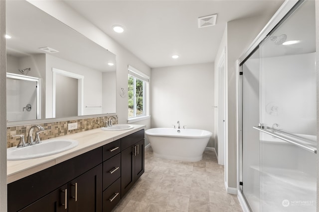
[[223, 178], [224, 166], [213, 151], [199, 162], [183, 162], [153, 157], [148, 146], [145, 173], [113, 212], [242, 212]]

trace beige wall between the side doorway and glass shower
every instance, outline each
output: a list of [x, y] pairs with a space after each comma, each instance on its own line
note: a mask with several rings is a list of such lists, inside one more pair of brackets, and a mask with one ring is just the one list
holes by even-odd
[[[237, 81], [236, 61], [253, 42], [258, 33], [267, 24], [273, 14], [268, 16], [250, 17], [238, 19], [227, 23], [225, 33], [220, 44], [218, 54], [215, 58], [215, 84], [217, 84], [218, 73], [216, 72], [218, 61], [223, 49], [226, 48], [226, 187], [228, 193], [237, 192]], [[217, 96], [218, 88], [215, 88]], [[217, 98], [215, 98], [217, 101]], [[217, 105], [217, 102], [215, 102]], [[216, 114], [217, 111], [215, 111]], [[216, 122], [215, 122], [216, 123]], [[218, 139], [218, 135], [215, 138]]]

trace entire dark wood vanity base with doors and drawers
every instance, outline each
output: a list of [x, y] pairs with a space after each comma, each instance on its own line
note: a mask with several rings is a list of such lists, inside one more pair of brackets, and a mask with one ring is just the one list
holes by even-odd
[[9, 183], [8, 212], [111, 212], [143, 173], [141, 130]]

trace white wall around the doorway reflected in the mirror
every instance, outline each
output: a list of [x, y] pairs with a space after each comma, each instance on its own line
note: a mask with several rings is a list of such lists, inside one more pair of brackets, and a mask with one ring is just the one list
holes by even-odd
[[46, 55], [46, 95], [45, 118], [52, 118], [52, 68], [84, 76], [83, 115], [101, 114], [102, 108], [85, 108], [85, 106], [102, 105], [102, 72], [66, 61], [52, 55]]

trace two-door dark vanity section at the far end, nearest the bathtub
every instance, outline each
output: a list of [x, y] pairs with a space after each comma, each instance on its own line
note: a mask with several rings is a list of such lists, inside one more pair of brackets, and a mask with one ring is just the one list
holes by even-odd
[[121, 139], [121, 197], [144, 173], [144, 130]]

